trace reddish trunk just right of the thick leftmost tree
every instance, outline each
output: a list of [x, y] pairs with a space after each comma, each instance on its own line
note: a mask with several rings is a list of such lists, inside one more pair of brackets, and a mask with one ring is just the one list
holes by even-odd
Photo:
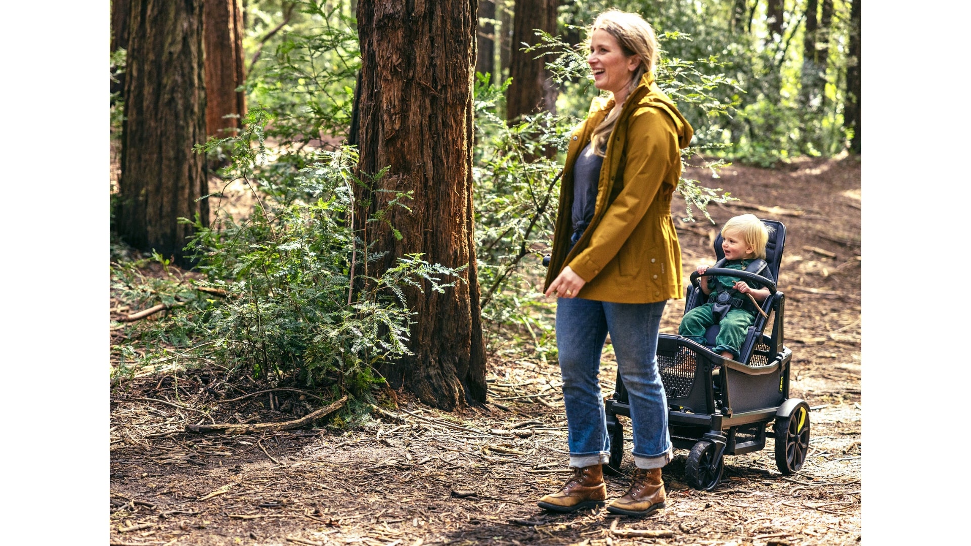
[[[233, 136], [246, 116], [243, 68], [243, 6], [240, 0], [204, 0], [206, 134]], [[226, 118], [239, 116], [240, 118]]]

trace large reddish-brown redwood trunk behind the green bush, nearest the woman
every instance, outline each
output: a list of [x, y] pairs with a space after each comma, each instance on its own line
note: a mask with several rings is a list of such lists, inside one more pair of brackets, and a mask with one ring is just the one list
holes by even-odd
[[[401, 256], [465, 267], [445, 293], [406, 289], [418, 314], [413, 356], [379, 371], [444, 409], [485, 401], [485, 354], [473, 237], [472, 139], [476, 4], [467, 0], [359, 0], [361, 48], [358, 168], [354, 226], [373, 252], [387, 255], [369, 269], [385, 271]], [[367, 175], [387, 168], [372, 181]], [[388, 190], [391, 193], [380, 191]], [[366, 222], [394, 192], [411, 191], [410, 210], [394, 207], [385, 222]]]

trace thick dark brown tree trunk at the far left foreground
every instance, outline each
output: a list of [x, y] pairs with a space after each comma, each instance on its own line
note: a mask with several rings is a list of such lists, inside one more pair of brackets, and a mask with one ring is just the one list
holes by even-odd
[[131, 6], [117, 228], [133, 247], [183, 254], [191, 225], [209, 223], [202, 0], [143, 0]]

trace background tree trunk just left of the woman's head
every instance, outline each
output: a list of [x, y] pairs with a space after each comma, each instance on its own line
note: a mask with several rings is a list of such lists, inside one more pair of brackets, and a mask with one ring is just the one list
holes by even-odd
[[506, 119], [513, 120], [537, 110], [556, 112], [556, 86], [544, 65], [539, 51], [524, 52], [522, 43], [536, 45], [539, 28], [555, 34], [557, 0], [516, 0], [513, 16], [513, 49], [510, 51], [509, 76], [512, 84], [506, 89]]

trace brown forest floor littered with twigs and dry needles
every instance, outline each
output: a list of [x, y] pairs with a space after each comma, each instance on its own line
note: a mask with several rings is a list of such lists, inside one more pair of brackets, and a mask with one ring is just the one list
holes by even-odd
[[[569, 472], [554, 361], [510, 348], [493, 352], [488, 403], [481, 408], [450, 414], [398, 393], [397, 408], [341, 433], [303, 428], [238, 435], [184, 428], [286, 421], [307, 395], [260, 392], [268, 388], [255, 384], [230, 388], [218, 370], [204, 366], [113, 387], [111, 543], [858, 543], [860, 161], [806, 158], [775, 170], [736, 165], [714, 180], [701, 170], [688, 174], [741, 201], [711, 207], [718, 225], [676, 222], [686, 277], [698, 262], [713, 260], [716, 229], [728, 218], [753, 212], [787, 226], [779, 288], [787, 297], [785, 342], [793, 353], [790, 395], [812, 408], [810, 451], [798, 473], [778, 471], [770, 433], [763, 451], [725, 458], [713, 492], [686, 486], [686, 452], [676, 450], [663, 470], [667, 508], [652, 517], [552, 514], [536, 499], [557, 490]], [[674, 211], [683, 216], [684, 204], [676, 200]], [[683, 306], [684, 300], [669, 303], [662, 331], [677, 331]], [[112, 307], [117, 319], [117, 301]], [[125, 331], [112, 329], [113, 345]], [[615, 374], [608, 352], [605, 394], [613, 392]], [[625, 447], [621, 469], [629, 473], [629, 442]], [[609, 498], [628, 484], [626, 476], [607, 481]], [[645, 530], [664, 532], [637, 535]]]

